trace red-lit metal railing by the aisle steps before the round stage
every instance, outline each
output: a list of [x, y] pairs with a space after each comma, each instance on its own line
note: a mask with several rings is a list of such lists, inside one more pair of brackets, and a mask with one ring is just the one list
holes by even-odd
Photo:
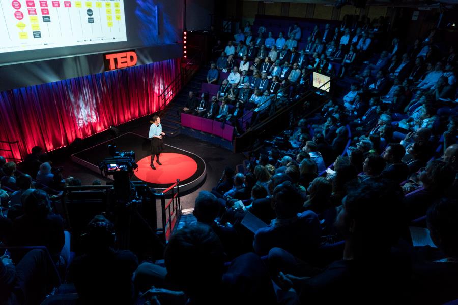
[[[176, 191], [175, 191], [176, 189]], [[170, 192], [171, 198], [165, 202], [165, 196]], [[155, 194], [161, 200], [162, 214], [162, 239], [165, 243], [170, 237], [175, 225], [180, 220], [181, 203], [180, 203], [180, 179], [159, 194]]]

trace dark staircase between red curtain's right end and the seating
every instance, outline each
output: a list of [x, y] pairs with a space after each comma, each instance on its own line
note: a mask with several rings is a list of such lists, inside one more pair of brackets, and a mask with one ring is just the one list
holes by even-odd
[[178, 110], [183, 108], [188, 101], [189, 91], [194, 91], [194, 94], [199, 97], [202, 82], [206, 81], [208, 67], [202, 67], [194, 75], [192, 80], [180, 91], [180, 93], [171, 101], [169, 106], [161, 115], [162, 129], [168, 137], [176, 137], [181, 132], [181, 118], [178, 115]]

